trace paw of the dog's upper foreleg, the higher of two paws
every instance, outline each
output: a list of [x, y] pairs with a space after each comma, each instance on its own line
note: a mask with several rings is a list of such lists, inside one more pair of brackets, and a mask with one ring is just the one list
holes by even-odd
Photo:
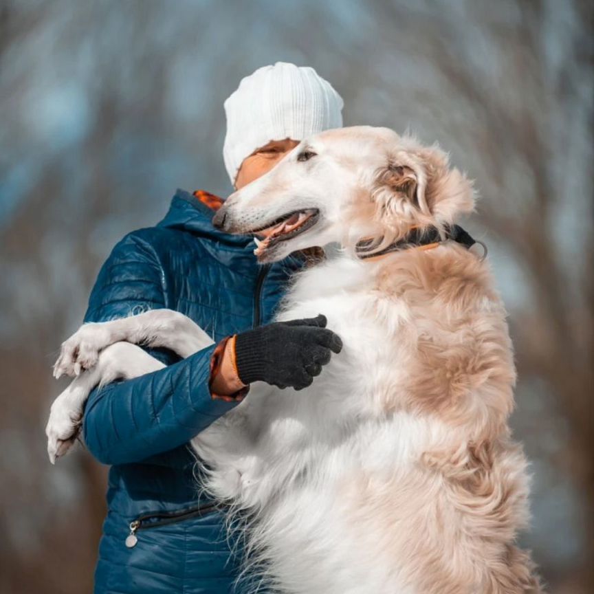
[[91, 369], [97, 363], [100, 351], [112, 342], [109, 330], [102, 322], [84, 324], [62, 343], [60, 356], [54, 364], [54, 377], [56, 380], [62, 375], [74, 377]]

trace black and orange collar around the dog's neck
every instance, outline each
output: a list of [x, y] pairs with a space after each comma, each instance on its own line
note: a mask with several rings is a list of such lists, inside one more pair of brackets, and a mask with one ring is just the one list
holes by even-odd
[[460, 225], [445, 225], [445, 238], [442, 239], [441, 233], [437, 227], [427, 227], [424, 229], [412, 228], [406, 236], [380, 250], [379, 252], [371, 252], [373, 250], [372, 244], [374, 243], [373, 237], [361, 239], [355, 245], [355, 253], [361, 260], [371, 259], [375, 257], [385, 256], [390, 252], [398, 252], [400, 250], [406, 250], [408, 248], [421, 248], [421, 250], [430, 250], [431, 248], [437, 248], [439, 243], [443, 241], [452, 240], [456, 243], [460, 243], [467, 250], [470, 250], [475, 243], [481, 245], [483, 248], [483, 255], [481, 261], [487, 257], [487, 246], [482, 241], [474, 239], [470, 233], [461, 228]]

